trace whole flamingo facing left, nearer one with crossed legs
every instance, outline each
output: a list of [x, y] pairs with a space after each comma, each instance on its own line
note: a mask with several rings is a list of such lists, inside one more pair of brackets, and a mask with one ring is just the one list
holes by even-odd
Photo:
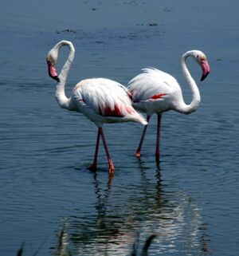
[[[56, 69], [58, 53], [61, 47], [65, 45], [69, 47], [69, 57], [58, 76]], [[104, 137], [103, 124], [134, 121], [146, 125], [147, 122], [143, 116], [136, 112], [135, 108], [131, 106], [127, 89], [118, 82], [107, 78], [92, 78], [80, 81], [72, 89], [72, 95], [68, 98], [65, 95], [65, 83], [74, 56], [74, 46], [71, 41], [66, 40], [59, 41], [47, 54], [46, 61], [48, 64], [49, 77], [57, 81], [55, 97], [61, 108], [81, 112], [96, 124], [98, 128], [96, 150], [93, 163], [89, 169], [96, 171], [101, 136], [108, 159], [108, 171], [110, 174], [113, 174], [115, 167]]]

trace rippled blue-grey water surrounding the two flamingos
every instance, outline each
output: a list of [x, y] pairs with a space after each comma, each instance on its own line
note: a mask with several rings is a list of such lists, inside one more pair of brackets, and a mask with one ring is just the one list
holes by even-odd
[[[72, 255], [239, 255], [239, 2], [96, 1], [0, 2], [0, 255], [59, 255], [59, 234]], [[96, 126], [61, 109], [45, 56], [61, 39], [76, 57], [76, 82], [108, 77], [123, 85], [153, 66], [171, 73], [191, 94], [180, 57], [206, 53], [211, 73], [188, 65], [202, 95], [197, 112], [163, 115], [161, 160], [155, 162], [156, 116], [140, 160], [140, 124], [104, 125], [116, 172]], [[62, 49], [60, 65], [68, 51]]]

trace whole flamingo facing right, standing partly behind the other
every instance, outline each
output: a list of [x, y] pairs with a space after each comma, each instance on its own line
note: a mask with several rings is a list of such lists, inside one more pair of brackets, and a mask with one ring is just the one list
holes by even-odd
[[[174, 110], [183, 114], [190, 114], [196, 111], [200, 104], [201, 96], [193, 77], [186, 67], [186, 59], [192, 57], [202, 68], [203, 81], [210, 73], [210, 65], [208, 64], [206, 55], [199, 50], [190, 50], [182, 54], [181, 65], [182, 73], [190, 86], [192, 93], [192, 101], [186, 104], [183, 100], [182, 90], [178, 81], [168, 73], [155, 68], [142, 69], [143, 73], [134, 77], [128, 83], [128, 91], [132, 100], [132, 105], [136, 110], [147, 113], [147, 122], [151, 115], [156, 113], [158, 116], [156, 150], [155, 156], [159, 160], [159, 140], [162, 113], [168, 110]], [[139, 147], [135, 156], [141, 156], [141, 148], [143, 145], [144, 136], [147, 132], [147, 125], [143, 128]]]

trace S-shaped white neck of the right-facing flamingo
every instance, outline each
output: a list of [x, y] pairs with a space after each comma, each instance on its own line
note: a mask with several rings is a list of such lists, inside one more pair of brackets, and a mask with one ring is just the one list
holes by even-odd
[[193, 51], [188, 51], [182, 55], [181, 59], [181, 66], [182, 66], [182, 73], [190, 86], [190, 91], [192, 93], [192, 101], [190, 104], [186, 104], [184, 100], [182, 100], [181, 104], [177, 106], [177, 111], [182, 112], [184, 114], [190, 114], [194, 112], [201, 101], [201, 96], [198, 90], [198, 85], [195, 83], [194, 78], [190, 75], [189, 70], [186, 67], [186, 58], [193, 55]]

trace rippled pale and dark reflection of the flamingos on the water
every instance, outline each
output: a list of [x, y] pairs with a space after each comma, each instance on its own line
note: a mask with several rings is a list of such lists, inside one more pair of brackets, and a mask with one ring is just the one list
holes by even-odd
[[[163, 185], [159, 168], [153, 180], [139, 162], [141, 182], [114, 190], [94, 174], [96, 206], [92, 215], [69, 216], [66, 232], [76, 255], [128, 255], [154, 234], [150, 254], [209, 254], [207, 226], [185, 191]], [[137, 242], [139, 234], [139, 242]], [[136, 242], [135, 242], [136, 241]]]

